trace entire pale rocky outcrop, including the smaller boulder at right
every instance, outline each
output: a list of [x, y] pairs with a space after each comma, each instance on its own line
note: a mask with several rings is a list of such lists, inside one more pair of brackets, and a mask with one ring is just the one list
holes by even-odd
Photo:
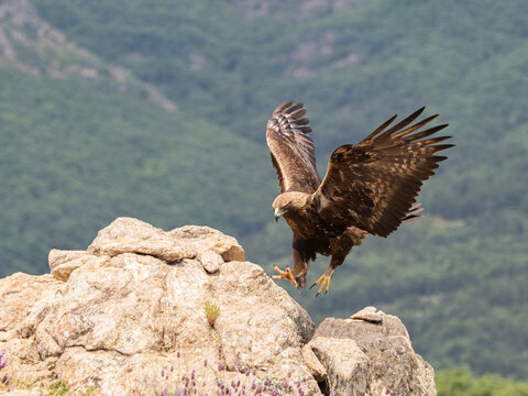
[[316, 330], [207, 227], [119, 218], [87, 251], [53, 250], [50, 266], [0, 280], [2, 375], [32, 395], [54, 381], [92, 395], [436, 394], [399, 319], [369, 308]]

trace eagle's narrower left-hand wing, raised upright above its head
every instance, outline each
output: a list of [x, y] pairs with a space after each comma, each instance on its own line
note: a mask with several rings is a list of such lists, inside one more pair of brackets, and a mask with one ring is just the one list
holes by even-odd
[[302, 103], [288, 101], [267, 122], [266, 141], [277, 170], [282, 193], [312, 194], [321, 184], [316, 167], [316, 146], [308, 136], [311, 128]]

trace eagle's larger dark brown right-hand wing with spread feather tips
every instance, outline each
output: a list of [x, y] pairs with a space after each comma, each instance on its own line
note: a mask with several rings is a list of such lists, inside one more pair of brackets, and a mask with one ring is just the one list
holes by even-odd
[[394, 116], [358, 145], [346, 144], [332, 153], [327, 175], [314, 194], [324, 221], [387, 237], [409, 219], [422, 182], [447, 158], [436, 153], [452, 146], [437, 144], [451, 136], [428, 138], [447, 124], [418, 131], [438, 114], [407, 128], [424, 109], [387, 129]]

